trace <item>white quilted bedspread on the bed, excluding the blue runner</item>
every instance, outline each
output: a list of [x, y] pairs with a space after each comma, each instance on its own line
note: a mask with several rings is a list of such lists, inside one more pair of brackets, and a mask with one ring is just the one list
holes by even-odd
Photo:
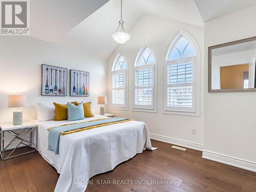
[[[73, 122], [109, 118], [97, 116]], [[60, 136], [59, 153], [48, 151], [49, 127], [70, 121], [38, 122], [38, 152], [60, 174], [55, 191], [85, 191], [91, 177], [113, 170], [118, 164], [142, 153], [151, 146], [147, 126], [127, 121], [96, 129]]]

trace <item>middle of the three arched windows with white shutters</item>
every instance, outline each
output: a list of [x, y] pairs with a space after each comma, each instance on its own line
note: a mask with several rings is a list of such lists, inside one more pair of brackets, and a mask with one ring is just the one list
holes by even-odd
[[133, 110], [156, 112], [156, 56], [143, 46], [134, 65]]

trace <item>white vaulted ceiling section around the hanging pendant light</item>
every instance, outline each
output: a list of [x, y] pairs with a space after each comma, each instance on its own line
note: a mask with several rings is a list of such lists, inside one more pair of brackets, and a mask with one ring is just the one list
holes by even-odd
[[[130, 31], [136, 21], [145, 14], [203, 27], [203, 20], [193, 0], [124, 0], [125, 30]], [[67, 32], [56, 43], [108, 58], [118, 46], [112, 39], [112, 34], [116, 31], [119, 20], [120, 1], [111, 0]]]

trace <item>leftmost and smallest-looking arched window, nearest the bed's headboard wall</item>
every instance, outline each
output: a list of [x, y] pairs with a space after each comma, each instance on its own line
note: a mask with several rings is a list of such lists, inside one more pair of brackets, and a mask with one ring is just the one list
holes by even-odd
[[117, 108], [127, 107], [127, 63], [119, 53], [112, 67], [112, 106]]

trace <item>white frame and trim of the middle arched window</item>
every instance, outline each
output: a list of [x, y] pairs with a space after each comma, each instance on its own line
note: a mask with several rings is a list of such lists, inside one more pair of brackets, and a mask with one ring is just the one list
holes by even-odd
[[[148, 48], [152, 51], [152, 54], [155, 58], [155, 63], [147, 64], [144, 66], [138, 66], [138, 62], [140, 59], [141, 54], [143, 53], [144, 49]], [[145, 105], [135, 105], [135, 71], [138, 69], [149, 69], [152, 68], [152, 76], [153, 76], [153, 81], [152, 81], [152, 106], [145, 106]], [[145, 88], [145, 87], [143, 87]], [[149, 46], [143, 45], [135, 59], [135, 65], [133, 69], [133, 108], [132, 111], [139, 111], [139, 112], [150, 112], [150, 113], [157, 113], [157, 57], [155, 55], [155, 52], [153, 49]]]

